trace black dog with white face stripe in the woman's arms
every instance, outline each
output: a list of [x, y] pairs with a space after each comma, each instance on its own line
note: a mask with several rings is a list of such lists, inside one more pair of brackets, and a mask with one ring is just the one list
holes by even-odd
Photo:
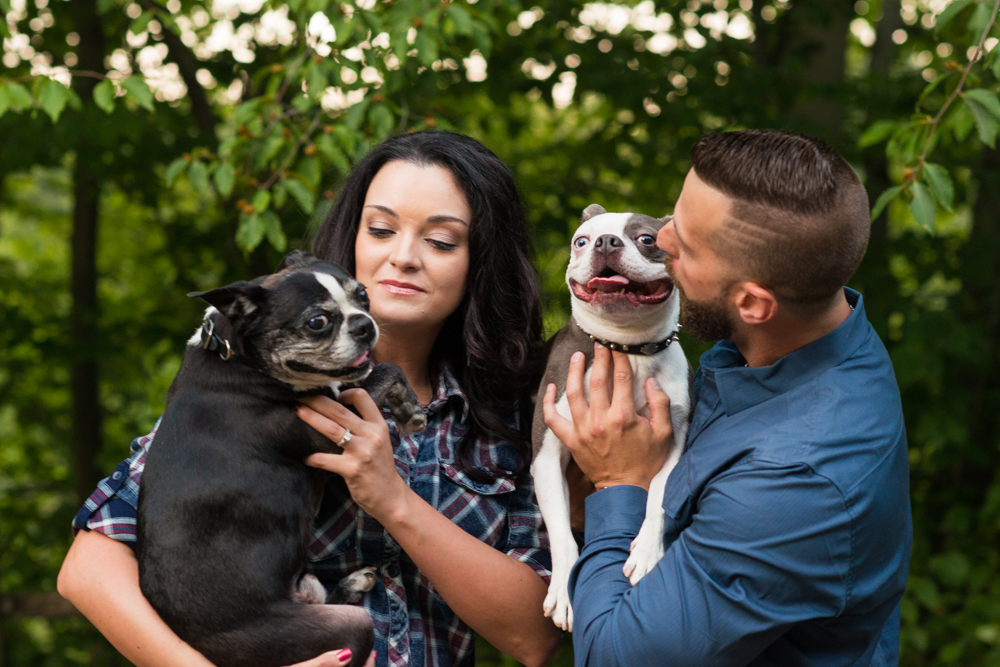
[[[143, 594], [220, 667], [280, 667], [339, 648], [362, 664], [371, 618], [365, 568], [327, 599], [302, 576], [325, 473], [303, 463], [340, 447], [295, 416], [305, 395], [361, 383], [401, 428], [426, 424], [402, 371], [375, 366], [364, 286], [300, 252], [279, 271], [192, 293], [210, 304], [167, 396], [139, 494]], [[314, 603], [314, 604], [304, 604]]]

